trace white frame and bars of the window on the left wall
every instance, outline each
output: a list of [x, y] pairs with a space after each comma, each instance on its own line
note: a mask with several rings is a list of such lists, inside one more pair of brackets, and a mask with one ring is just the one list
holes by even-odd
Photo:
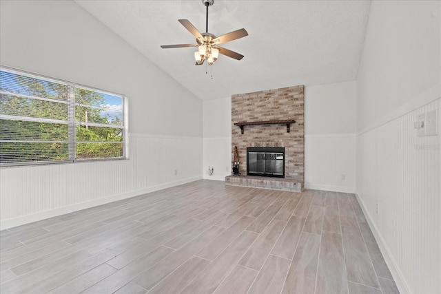
[[[22, 76], [27, 76], [30, 78], [36, 78], [43, 81], [48, 81], [52, 83], [57, 83], [61, 85], [66, 85], [68, 87], [68, 99], [63, 102], [61, 100], [52, 100], [50, 98], [43, 98], [39, 96], [30, 96], [25, 94], [17, 94], [17, 96], [21, 96], [23, 98], [36, 99], [40, 101], [48, 101], [51, 103], [63, 103], [68, 105], [68, 120], [57, 120], [52, 118], [33, 118], [32, 116], [11, 116], [9, 114], [0, 114], [0, 119], [7, 119], [7, 120], [15, 120], [15, 121], [30, 121], [30, 122], [36, 122], [36, 123], [59, 123], [67, 125], [68, 127], [68, 159], [60, 159], [60, 160], [41, 160], [41, 161], [26, 161], [26, 162], [0, 162], [0, 167], [19, 167], [19, 166], [31, 166], [31, 165], [58, 165], [63, 163], [74, 163], [74, 162], [102, 162], [102, 161], [109, 161], [109, 160], [128, 160], [129, 159], [129, 131], [128, 131], [128, 125], [129, 125], [129, 108], [128, 108], [128, 99], [127, 96], [123, 94], [119, 94], [116, 92], [110, 92], [108, 90], [101, 90], [97, 87], [91, 87], [88, 85], [82, 85], [79, 83], [73, 83], [70, 81], [65, 81], [61, 78], [53, 78], [51, 76], [45, 76], [43, 74], [36, 74], [34, 72], [28, 72], [25, 70], [19, 70], [14, 67], [8, 67], [6, 65], [0, 65], [0, 70], [5, 72], [10, 72], [12, 74], [19, 74]], [[104, 107], [96, 107], [94, 105], [84, 105], [80, 102], [76, 102], [76, 89], [83, 89], [83, 90], [89, 90], [92, 92], [98, 92], [99, 94], [107, 94], [111, 96], [121, 97], [122, 99], [122, 106], [123, 109], [121, 111], [122, 119], [121, 119], [121, 127], [116, 127], [115, 125], [105, 125], [105, 124], [96, 124], [96, 123], [87, 123], [90, 126], [96, 126], [96, 127], [110, 127], [110, 128], [116, 128], [121, 129], [121, 134], [123, 136], [122, 140], [122, 147], [123, 147], [123, 154], [120, 157], [110, 157], [110, 158], [77, 158], [76, 154], [76, 148], [77, 145], [80, 143], [85, 143], [84, 141], [77, 140], [76, 136], [76, 127], [78, 125], [83, 125], [85, 122], [79, 120], [76, 120], [76, 107], [77, 106], [87, 106], [91, 108], [97, 108], [97, 109], [103, 109]], [[6, 94], [5, 92], [2, 92], [3, 94]], [[11, 119], [12, 118], [12, 119]], [[20, 118], [20, 119], [17, 119]], [[11, 143], [14, 142], [26, 142], [27, 143], [44, 143], [46, 141], [43, 140], [0, 140], [0, 144], [6, 143], [6, 141], [10, 141]], [[57, 140], [50, 140], [46, 143], [56, 143]], [[65, 141], [59, 141], [58, 143], [65, 143]], [[110, 143], [110, 144], [121, 144], [120, 142], [94, 142], [90, 141], [87, 143]]]

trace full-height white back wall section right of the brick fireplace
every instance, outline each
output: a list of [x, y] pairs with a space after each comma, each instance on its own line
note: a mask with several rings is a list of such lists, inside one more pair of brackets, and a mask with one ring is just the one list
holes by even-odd
[[356, 81], [305, 89], [305, 187], [353, 193]]

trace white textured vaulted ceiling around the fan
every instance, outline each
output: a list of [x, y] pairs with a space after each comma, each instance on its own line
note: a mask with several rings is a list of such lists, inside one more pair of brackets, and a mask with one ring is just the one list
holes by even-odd
[[201, 0], [76, 3], [203, 100], [355, 80], [370, 8], [370, 1], [353, 0], [215, 0], [208, 32], [245, 28], [249, 36], [222, 45], [245, 55], [241, 61], [220, 55], [205, 74], [205, 65], [194, 65], [196, 48], [159, 47], [195, 43], [178, 19], [205, 32]]

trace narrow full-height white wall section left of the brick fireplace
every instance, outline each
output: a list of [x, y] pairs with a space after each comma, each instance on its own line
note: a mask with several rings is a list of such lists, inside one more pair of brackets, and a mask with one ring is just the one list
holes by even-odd
[[[232, 99], [203, 101], [204, 178], [224, 180], [232, 174]], [[207, 174], [208, 167], [214, 174]]]

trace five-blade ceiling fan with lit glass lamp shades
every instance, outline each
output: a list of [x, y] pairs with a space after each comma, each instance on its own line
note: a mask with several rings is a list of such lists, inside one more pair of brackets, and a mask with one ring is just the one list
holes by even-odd
[[188, 19], [178, 19], [178, 21], [186, 28], [189, 32], [196, 36], [196, 43], [194, 44], [176, 44], [176, 45], [161, 45], [161, 48], [184, 48], [184, 47], [198, 47], [198, 51], [194, 52], [194, 59], [196, 59], [196, 65], [201, 65], [207, 59], [207, 63], [212, 65], [218, 55], [223, 54], [225, 56], [231, 57], [233, 59], [243, 59], [242, 54], [238, 54], [232, 50], [220, 47], [219, 44], [233, 41], [236, 39], [248, 36], [248, 32], [245, 29], [235, 30], [234, 32], [229, 32], [223, 34], [222, 36], [214, 36], [208, 32], [208, 7], [212, 6], [214, 0], [202, 0], [202, 3], [207, 8], [207, 17], [205, 22], [205, 32], [199, 32]]

